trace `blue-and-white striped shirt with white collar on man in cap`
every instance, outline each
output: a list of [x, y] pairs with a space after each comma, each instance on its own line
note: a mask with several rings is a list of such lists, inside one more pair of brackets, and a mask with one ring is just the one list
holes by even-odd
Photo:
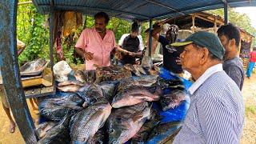
[[190, 108], [175, 143], [239, 143], [244, 122], [242, 94], [222, 70], [210, 67], [190, 87]]

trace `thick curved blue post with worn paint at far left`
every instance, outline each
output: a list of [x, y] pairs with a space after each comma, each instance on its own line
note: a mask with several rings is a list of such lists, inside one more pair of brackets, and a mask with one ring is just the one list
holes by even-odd
[[10, 109], [26, 143], [36, 143], [30, 110], [26, 104], [25, 94], [18, 67], [16, 19], [17, 0], [0, 1], [0, 66], [3, 85]]

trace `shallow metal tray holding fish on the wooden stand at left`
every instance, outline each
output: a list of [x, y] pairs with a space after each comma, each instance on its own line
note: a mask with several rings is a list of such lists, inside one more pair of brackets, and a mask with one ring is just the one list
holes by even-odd
[[39, 75], [42, 74], [42, 71], [46, 68], [46, 66], [49, 64], [49, 62], [46, 61], [45, 65], [42, 66], [39, 70], [35, 70], [35, 71], [26, 71], [24, 72], [33, 62], [26, 62], [26, 64], [24, 64], [21, 68], [21, 76], [35, 76], [35, 75]]

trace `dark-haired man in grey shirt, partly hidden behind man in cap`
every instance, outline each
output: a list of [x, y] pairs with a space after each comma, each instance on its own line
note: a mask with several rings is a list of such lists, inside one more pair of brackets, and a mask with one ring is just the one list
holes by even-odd
[[218, 38], [225, 48], [223, 70], [234, 80], [240, 90], [244, 81], [245, 72], [242, 60], [238, 57], [238, 47], [240, 42], [240, 31], [232, 24], [221, 26], [218, 31]]

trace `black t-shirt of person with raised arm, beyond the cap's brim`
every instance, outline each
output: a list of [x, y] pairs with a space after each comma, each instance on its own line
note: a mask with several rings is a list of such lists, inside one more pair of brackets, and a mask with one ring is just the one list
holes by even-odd
[[169, 45], [169, 41], [162, 35], [159, 36], [158, 42], [162, 44], [163, 68], [170, 70], [175, 74], [181, 74], [183, 72], [182, 66], [176, 63], [176, 59], [179, 57], [179, 54], [182, 53], [182, 50], [177, 49], [177, 51], [174, 51], [173, 53], [168, 52], [166, 45]]

